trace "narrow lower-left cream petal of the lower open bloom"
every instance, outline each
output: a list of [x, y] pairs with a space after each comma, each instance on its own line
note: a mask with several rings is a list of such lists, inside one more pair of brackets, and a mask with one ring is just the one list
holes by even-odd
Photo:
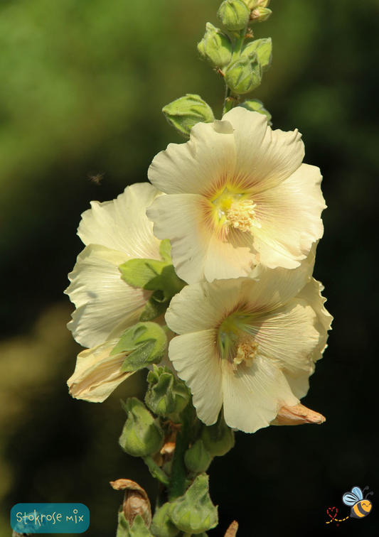
[[193, 395], [193, 405], [205, 425], [213, 425], [223, 405], [222, 371], [215, 352], [215, 330], [176, 336], [169, 345], [169, 358], [178, 376]]

